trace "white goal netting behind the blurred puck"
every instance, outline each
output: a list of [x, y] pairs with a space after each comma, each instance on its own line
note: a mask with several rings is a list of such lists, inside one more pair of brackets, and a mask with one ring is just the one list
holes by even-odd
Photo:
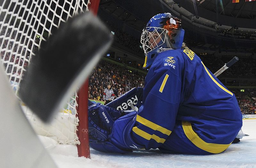
[[[0, 1], [0, 60], [18, 97], [22, 75], [41, 43], [57, 30], [61, 22], [87, 11], [88, 3], [89, 0]], [[56, 136], [62, 144], [79, 144], [76, 98], [74, 93], [51, 125], [42, 124], [27, 108], [23, 109], [38, 134]]]

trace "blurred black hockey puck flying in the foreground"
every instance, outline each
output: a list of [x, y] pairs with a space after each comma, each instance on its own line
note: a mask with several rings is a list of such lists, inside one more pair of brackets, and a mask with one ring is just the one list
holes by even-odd
[[70, 18], [33, 56], [20, 84], [21, 100], [49, 121], [90, 75], [113, 37], [91, 13]]

